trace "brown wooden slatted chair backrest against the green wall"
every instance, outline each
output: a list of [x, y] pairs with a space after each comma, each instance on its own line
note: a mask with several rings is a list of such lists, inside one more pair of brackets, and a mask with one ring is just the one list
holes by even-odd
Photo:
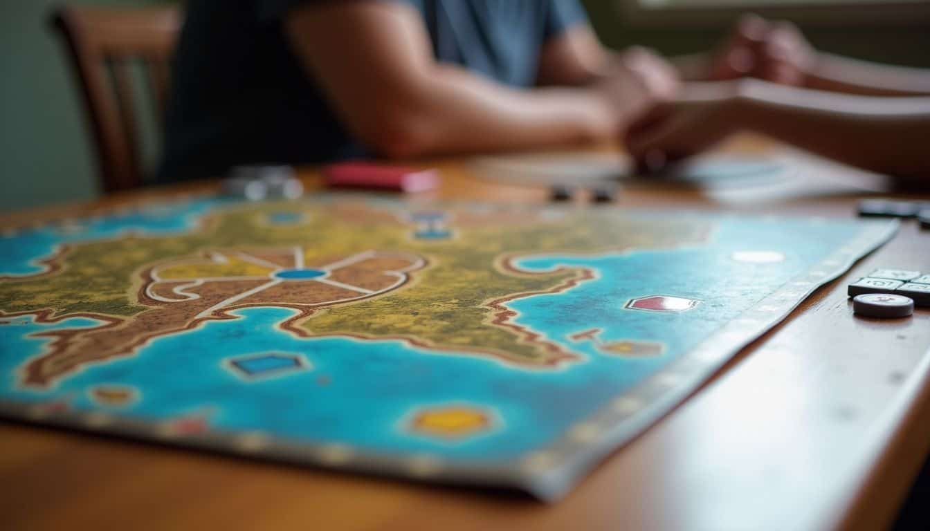
[[180, 27], [177, 7], [60, 7], [52, 25], [68, 45], [81, 84], [105, 192], [142, 184], [132, 65], [141, 64], [161, 126], [169, 63]]

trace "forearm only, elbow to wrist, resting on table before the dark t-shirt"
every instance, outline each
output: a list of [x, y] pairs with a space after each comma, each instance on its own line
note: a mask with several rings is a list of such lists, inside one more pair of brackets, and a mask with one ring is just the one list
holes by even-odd
[[384, 103], [359, 133], [389, 156], [565, 145], [618, 131], [616, 110], [593, 88], [515, 89], [451, 65], [436, 65]]

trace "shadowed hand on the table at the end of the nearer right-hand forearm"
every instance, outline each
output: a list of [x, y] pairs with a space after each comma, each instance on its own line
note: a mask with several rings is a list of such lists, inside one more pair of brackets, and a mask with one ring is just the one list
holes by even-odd
[[739, 128], [737, 81], [694, 83], [677, 100], [658, 102], [627, 131], [626, 144], [641, 173], [710, 149]]

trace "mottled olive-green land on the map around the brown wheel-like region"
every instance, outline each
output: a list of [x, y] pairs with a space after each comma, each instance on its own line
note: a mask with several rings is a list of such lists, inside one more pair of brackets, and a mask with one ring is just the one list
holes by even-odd
[[[369, 208], [380, 209], [377, 204]], [[299, 209], [309, 222], [296, 226], [264, 222], [265, 213], [282, 209]], [[210, 249], [303, 246], [321, 257], [368, 249], [407, 251], [429, 261], [426, 269], [411, 274], [408, 285], [376, 299], [315, 312], [299, 325], [314, 335], [403, 336], [444, 350], [501, 352], [536, 364], [551, 353], [510, 329], [490, 325], [494, 311], [487, 303], [550, 290], [579, 272], [506, 272], [499, 267], [502, 257], [683, 246], [703, 240], [709, 230], [694, 218], [627, 217], [612, 208], [565, 213], [562, 219], [537, 220], [538, 211], [524, 207], [512, 214], [510, 222], [496, 216], [491, 217], [495, 222], [458, 224], [453, 218], [449, 225], [454, 238], [423, 241], [411, 237], [412, 223], [385, 218], [383, 212], [373, 217], [377, 221], [366, 222], [364, 215], [347, 215], [334, 204], [312, 201], [233, 208], [206, 218], [202, 231], [72, 246], [59, 258], [62, 267], [57, 272], [0, 281], [0, 309], [51, 308], [59, 316], [75, 312], [132, 316], [148, 309], [136, 299], [142, 271], [160, 261]]]

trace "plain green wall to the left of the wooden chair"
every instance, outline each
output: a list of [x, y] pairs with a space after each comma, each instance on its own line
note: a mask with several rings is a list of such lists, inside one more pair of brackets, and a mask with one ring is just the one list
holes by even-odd
[[[140, 6], [152, 0], [68, 0]], [[64, 46], [47, 23], [62, 2], [0, 0], [0, 211], [97, 194], [84, 109]]]

